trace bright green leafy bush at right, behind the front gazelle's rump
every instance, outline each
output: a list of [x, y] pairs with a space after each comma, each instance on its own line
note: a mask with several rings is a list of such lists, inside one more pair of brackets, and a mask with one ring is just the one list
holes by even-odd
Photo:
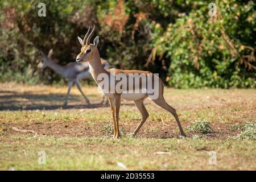
[[154, 24], [150, 59], [171, 61], [175, 88], [255, 87], [255, 3], [221, 1], [210, 18], [207, 2], [194, 5], [166, 29]]

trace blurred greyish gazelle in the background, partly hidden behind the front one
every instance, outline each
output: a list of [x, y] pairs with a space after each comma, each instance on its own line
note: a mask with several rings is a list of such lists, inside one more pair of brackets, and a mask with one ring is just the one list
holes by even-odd
[[[90, 75], [90, 69], [89, 69], [89, 65], [88, 63], [68, 63], [65, 66], [61, 66], [57, 63], [55, 63], [55, 61], [52, 60], [52, 54], [53, 51], [52, 49], [48, 52], [48, 55], [45, 55], [43, 52], [41, 52], [43, 55], [43, 60], [40, 61], [40, 63], [38, 64], [38, 68], [40, 68], [41, 70], [43, 70], [46, 67], [49, 67], [51, 69], [53, 69], [55, 72], [59, 73], [60, 75], [62, 75], [63, 77], [65, 77], [65, 79], [68, 81], [68, 93], [67, 96], [65, 98], [65, 102], [64, 105], [68, 104], [68, 98], [69, 98], [69, 93], [71, 91], [71, 88], [75, 82], [77, 88], [79, 89], [79, 91], [81, 92], [82, 96], [85, 98], [85, 101], [88, 105], [90, 105], [90, 101], [88, 100], [88, 98], [85, 96], [85, 94], [82, 92], [82, 88], [81, 88], [81, 84], [79, 82], [80, 79], [84, 79], [84, 78], [89, 78]], [[109, 63], [108, 61], [101, 59], [101, 63], [103, 64], [103, 67], [105, 69], [109, 68]], [[105, 100], [105, 96], [103, 96], [102, 98], [102, 104], [104, 104], [104, 100]], [[108, 101], [108, 100], [106, 100]]]

